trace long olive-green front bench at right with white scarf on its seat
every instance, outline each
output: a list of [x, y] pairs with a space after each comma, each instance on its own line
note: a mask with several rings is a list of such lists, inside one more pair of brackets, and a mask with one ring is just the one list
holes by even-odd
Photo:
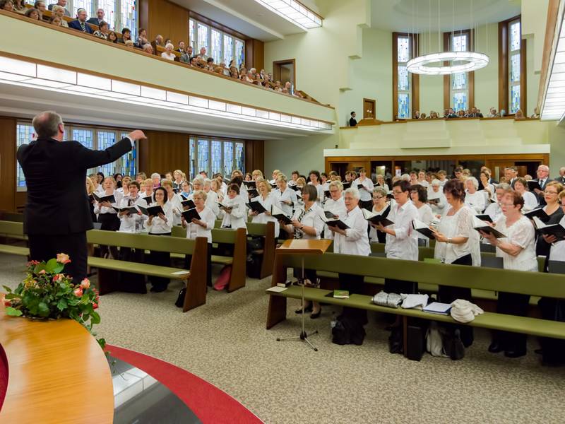
[[[272, 285], [286, 280], [287, 268], [300, 268], [300, 257], [295, 255], [275, 254]], [[365, 278], [394, 278], [403, 281], [418, 281], [427, 284], [444, 284], [453, 287], [480, 290], [505, 291], [548, 298], [565, 298], [565, 278], [560, 274], [529, 271], [511, 271], [504, 269], [481, 268], [476, 266], [434, 264], [421, 261], [404, 261], [383, 257], [361, 257], [356, 255], [326, 253], [319, 256], [305, 256], [304, 267], [316, 271], [339, 273], [347, 271]], [[286, 319], [287, 298], [301, 297], [301, 288], [290, 286], [280, 293], [266, 292], [269, 296], [267, 329]], [[456, 323], [450, 316], [429, 314], [420, 310], [389, 308], [374, 305], [370, 295], [352, 294], [349, 299], [328, 297], [331, 290], [307, 288], [305, 298], [317, 302], [355, 307], [364, 310], [399, 314], [403, 316], [406, 343], [408, 317], [430, 319], [440, 322]], [[499, 329], [518, 333], [532, 334], [553, 338], [565, 338], [565, 322], [554, 322], [532, 317], [484, 312], [468, 325]], [[406, 346], [405, 346], [405, 352]]]

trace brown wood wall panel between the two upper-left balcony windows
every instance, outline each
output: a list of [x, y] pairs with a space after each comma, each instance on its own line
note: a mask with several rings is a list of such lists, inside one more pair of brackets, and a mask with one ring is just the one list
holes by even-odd
[[148, 40], [157, 34], [170, 38], [177, 47], [179, 41], [189, 40], [189, 11], [167, 0], [140, 0], [139, 28], [147, 30]]

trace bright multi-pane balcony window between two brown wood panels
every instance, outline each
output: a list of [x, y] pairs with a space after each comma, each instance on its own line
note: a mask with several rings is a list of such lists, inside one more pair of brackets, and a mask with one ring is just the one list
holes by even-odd
[[244, 40], [210, 27], [206, 23], [190, 19], [189, 37], [194, 52], [198, 53], [201, 47], [206, 47], [206, 54], [213, 57], [214, 63], [223, 62], [229, 66], [230, 61], [235, 59], [236, 65], [239, 66], [245, 61]]

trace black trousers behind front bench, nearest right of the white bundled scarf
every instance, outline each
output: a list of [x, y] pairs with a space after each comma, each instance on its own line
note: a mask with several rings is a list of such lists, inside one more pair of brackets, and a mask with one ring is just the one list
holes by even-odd
[[[499, 292], [499, 300], [496, 302], [496, 312], [499, 314], [517, 315], [525, 317], [528, 315], [530, 295], [519, 293]], [[501, 343], [505, 351], [525, 352], [528, 336], [510, 331], [493, 331], [492, 341]]]

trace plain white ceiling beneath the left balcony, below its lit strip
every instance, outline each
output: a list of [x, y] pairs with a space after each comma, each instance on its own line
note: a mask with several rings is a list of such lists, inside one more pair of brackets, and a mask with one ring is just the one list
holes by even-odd
[[133, 105], [111, 98], [0, 83], [0, 114], [32, 118], [43, 110], [57, 110], [66, 122], [76, 124], [213, 134], [239, 139], [272, 140], [319, 134], [319, 131], [244, 122], [150, 105]]

